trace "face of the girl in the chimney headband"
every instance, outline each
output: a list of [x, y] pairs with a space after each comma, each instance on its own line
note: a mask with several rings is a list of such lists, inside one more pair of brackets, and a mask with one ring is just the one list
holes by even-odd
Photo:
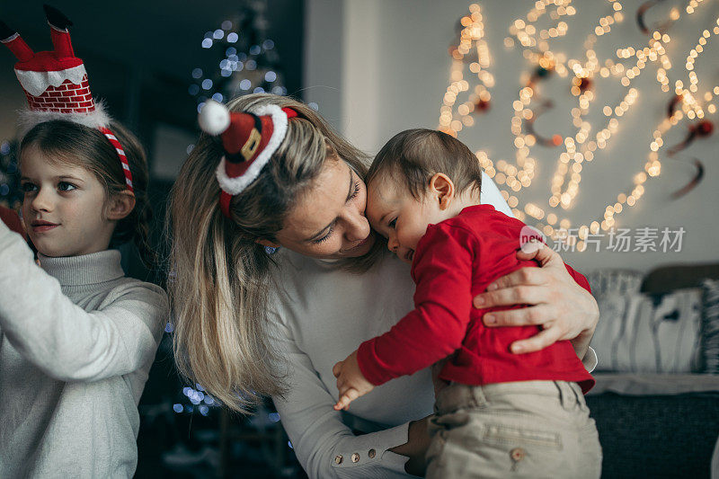
[[35, 146], [22, 150], [22, 220], [46, 256], [104, 251], [115, 223], [104, 215], [105, 191], [81, 166], [52, 161]]

